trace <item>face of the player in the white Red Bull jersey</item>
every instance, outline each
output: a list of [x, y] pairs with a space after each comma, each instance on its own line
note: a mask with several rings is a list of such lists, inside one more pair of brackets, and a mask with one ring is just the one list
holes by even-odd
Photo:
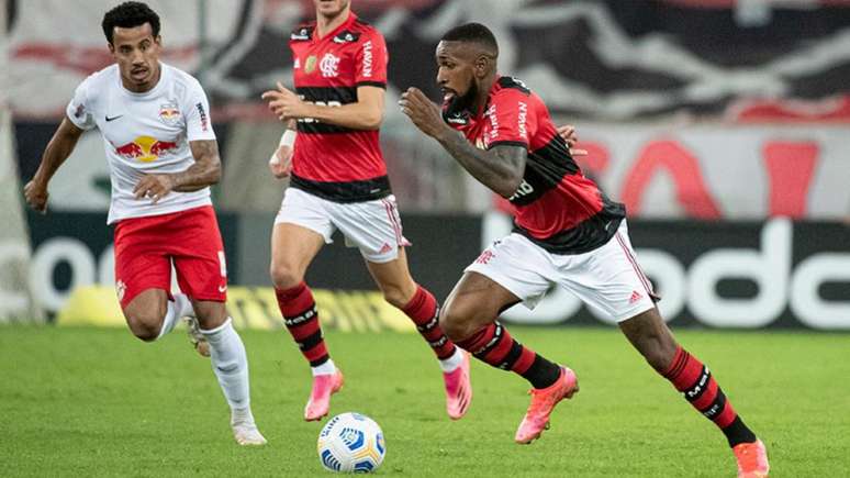
[[149, 23], [132, 29], [115, 26], [109, 51], [121, 70], [121, 79], [131, 91], [147, 91], [159, 80], [159, 36]]

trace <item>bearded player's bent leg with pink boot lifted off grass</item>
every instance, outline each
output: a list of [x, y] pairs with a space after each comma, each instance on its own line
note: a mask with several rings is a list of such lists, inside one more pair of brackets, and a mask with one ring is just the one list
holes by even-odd
[[[489, 273], [493, 273], [491, 277], [500, 277], [496, 269]], [[512, 286], [518, 285], [512, 282]], [[515, 290], [519, 289], [522, 287]], [[546, 288], [529, 287], [525, 290], [528, 297], [533, 297], [543, 293]], [[446, 300], [440, 312], [440, 325], [449, 338], [478, 359], [495, 368], [511, 370], [532, 383], [532, 402], [514, 436], [515, 442], [528, 444], [548, 427], [555, 405], [564, 398], [572, 398], [579, 390], [579, 383], [572, 370], [522, 345], [496, 321], [500, 313], [521, 301], [519, 296], [526, 294], [517, 294], [496, 280], [468, 268]]]

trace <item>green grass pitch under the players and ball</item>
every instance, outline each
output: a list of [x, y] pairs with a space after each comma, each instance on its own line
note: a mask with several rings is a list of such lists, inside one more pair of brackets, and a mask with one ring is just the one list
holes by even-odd
[[[346, 374], [331, 412], [383, 427], [383, 476], [735, 476], [723, 435], [616, 330], [511, 330], [581, 383], [530, 446], [513, 443], [524, 380], [473, 363], [472, 405], [451, 422], [437, 364], [414, 334], [328, 332]], [[126, 330], [0, 327], [0, 476], [329, 476], [315, 451], [322, 425], [302, 420], [306, 364], [286, 332], [242, 334], [261, 448], [235, 444], [209, 360], [183, 333], [145, 344]], [[850, 335], [676, 335], [767, 443], [771, 476], [850, 476]]]

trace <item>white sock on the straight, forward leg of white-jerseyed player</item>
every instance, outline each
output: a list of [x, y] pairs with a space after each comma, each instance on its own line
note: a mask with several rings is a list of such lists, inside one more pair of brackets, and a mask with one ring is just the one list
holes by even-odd
[[201, 333], [210, 343], [210, 362], [219, 378], [224, 398], [231, 410], [246, 410], [250, 405], [248, 391], [248, 357], [231, 318], [220, 326]]

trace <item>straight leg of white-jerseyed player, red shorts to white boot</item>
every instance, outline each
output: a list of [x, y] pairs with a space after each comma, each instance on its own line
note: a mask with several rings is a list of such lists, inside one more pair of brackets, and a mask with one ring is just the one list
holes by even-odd
[[183, 211], [170, 225], [168, 241], [180, 290], [191, 298], [199, 332], [210, 346], [210, 362], [231, 408], [231, 426], [241, 445], [262, 445], [250, 412], [248, 358], [227, 316], [227, 268], [212, 207]]

